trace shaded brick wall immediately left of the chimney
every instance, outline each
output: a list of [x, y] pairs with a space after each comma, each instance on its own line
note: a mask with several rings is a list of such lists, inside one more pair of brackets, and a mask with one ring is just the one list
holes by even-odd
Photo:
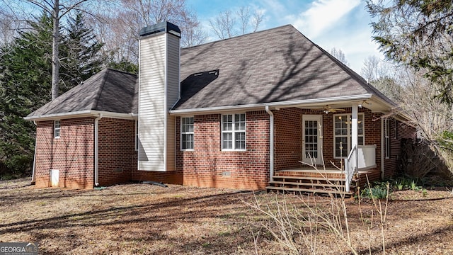
[[98, 123], [98, 183], [108, 186], [132, 179], [137, 169], [135, 120], [102, 118]]

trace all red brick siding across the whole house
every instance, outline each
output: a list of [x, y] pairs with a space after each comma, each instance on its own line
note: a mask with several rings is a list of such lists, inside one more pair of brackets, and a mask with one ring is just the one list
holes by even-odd
[[[345, 108], [344, 113], [350, 113]], [[382, 113], [366, 108], [365, 145], [377, 145], [377, 169], [381, 169]], [[283, 108], [275, 115], [275, 170], [302, 166], [302, 115], [323, 117], [323, 156], [326, 166], [333, 158], [333, 115], [322, 111]], [[220, 114], [194, 116], [194, 150], [180, 150], [180, 118], [176, 118], [176, 171], [137, 170], [134, 149], [135, 121], [102, 118], [98, 126], [98, 182], [108, 186], [125, 181], [162, 181], [188, 186], [261, 189], [269, 181], [269, 115], [265, 111], [246, 113], [246, 151], [221, 149]], [[94, 118], [60, 120], [61, 135], [54, 138], [53, 120], [37, 124], [36, 184], [50, 186], [50, 169], [59, 170], [59, 186], [94, 187]], [[413, 137], [414, 129], [391, 120], [391, 158], [384, 159], [385, 175], [395, 173], [400, 160], [401, 138]], [[376, 176], [377, 177], [377, 174]]]

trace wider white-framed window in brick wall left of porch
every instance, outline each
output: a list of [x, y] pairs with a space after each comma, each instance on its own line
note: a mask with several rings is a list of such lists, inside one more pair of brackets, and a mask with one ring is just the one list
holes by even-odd
[[222, 150], [246, 150], [246, 114], [222, 115]]

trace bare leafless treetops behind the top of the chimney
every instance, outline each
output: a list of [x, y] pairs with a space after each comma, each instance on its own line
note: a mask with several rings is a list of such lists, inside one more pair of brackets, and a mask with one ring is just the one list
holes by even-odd
[[188, 9], [185, 0], [117, 0], [110, 11], [100, 10], [94, 20], [104, 51], [114, 62], [138, 61], [138, 31], [161, 21], [169, 21], [181, 29], [181, 45], [189, 47], [205, 41], [197, 15]]

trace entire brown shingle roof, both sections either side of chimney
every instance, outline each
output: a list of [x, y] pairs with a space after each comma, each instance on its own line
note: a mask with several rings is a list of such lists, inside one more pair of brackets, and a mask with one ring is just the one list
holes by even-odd
[[[28, 117], [138, 112], [138, 79], [104, 69]], [[291, 25], [188, 47], [180, 54], [186, 110], [373, 94], [395, 104]]]

